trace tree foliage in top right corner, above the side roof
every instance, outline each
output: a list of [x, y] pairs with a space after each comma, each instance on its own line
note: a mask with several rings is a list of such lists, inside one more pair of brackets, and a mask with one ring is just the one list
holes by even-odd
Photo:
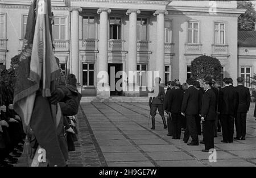
[[237, 9], [246, 9], [245, 14], [238, 17], [238, 30], [254, 31], [256, 11], [251, 1], [237, 1]]

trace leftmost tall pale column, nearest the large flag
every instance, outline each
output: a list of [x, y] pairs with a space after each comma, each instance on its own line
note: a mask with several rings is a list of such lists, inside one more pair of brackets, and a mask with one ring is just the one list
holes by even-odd
[[77, 82], [79, 78], [79, 13], [81, 7], [71, 7], [71, 73], [76, 75]]

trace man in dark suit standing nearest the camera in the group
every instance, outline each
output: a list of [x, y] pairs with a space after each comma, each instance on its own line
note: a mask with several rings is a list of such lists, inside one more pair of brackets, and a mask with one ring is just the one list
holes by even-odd
[[204, 90], [201, 121], [203, 122], [205, 149], [202, 151], [208, 152], [214, 148], [214, 122], [216, 120], [216, 96], [212, 89], [212, 81], [204, 81]]

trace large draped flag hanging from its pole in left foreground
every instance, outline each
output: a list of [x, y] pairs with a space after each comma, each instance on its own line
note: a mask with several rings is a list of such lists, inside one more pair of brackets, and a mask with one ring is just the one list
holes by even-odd
[[[51, 96], [51, 81], [59, 75], [53, 56], [51, 37], [51, 1], [34, 0], [30, 6], [15, 91], [14, 109], [28, 126], [36, 92]], [[26, 131], [26, 130], [25, 130]]]

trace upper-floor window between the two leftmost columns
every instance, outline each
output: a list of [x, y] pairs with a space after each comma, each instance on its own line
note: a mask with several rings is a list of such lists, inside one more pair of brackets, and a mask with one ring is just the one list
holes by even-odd
[[82, 18], [82, 38], [96, 39], [96, 23], [94, 16], [84, 16]]

